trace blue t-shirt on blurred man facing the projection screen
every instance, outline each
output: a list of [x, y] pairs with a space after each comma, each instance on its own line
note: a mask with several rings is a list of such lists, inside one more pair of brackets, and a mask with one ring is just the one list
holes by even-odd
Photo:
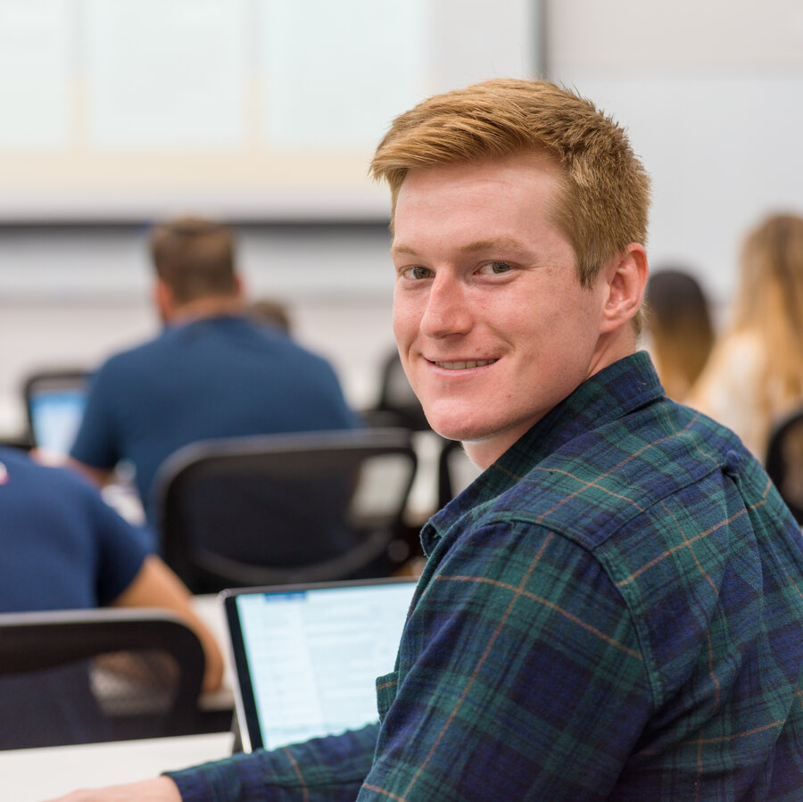
[[70, 455], [137, 471], [153, 525], [153, 478], [170, 454], [215, 437], [357, 426], [328, 362], [238, 316], [168, 327], [96, 373]]

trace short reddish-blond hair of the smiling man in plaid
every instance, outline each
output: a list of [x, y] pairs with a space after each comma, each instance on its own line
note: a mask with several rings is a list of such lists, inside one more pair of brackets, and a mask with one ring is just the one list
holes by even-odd
[[553, 219], [591, 286], [630, 243], [645, 244], [650, 178], [625, 131], [588, 100], [549, 81], [494, 79], [435, 95], [393, 120], [370, 173], [391, 189], [408, 170], [545, 152], [563, 171]]

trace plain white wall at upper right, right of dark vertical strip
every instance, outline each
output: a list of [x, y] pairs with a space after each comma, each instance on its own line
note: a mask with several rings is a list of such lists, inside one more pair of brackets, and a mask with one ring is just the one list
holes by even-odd
[[741, 236], [803, 213], [801, 0], [553, 0], [547, 59], [628, 129], [653, 178], [650, 263], [733, 293]]

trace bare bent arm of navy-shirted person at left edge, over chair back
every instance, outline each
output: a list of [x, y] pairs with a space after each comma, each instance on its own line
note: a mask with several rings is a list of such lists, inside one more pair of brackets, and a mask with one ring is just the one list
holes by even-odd
[[216, 690], [223, 678], [223, 656], [217, 641], [192, 608], [192, 595], [161, 558], [148, 555], [133, 581], [112, 607], [164, 608], [184, 619], [201, 641], [206, 657], [203, 690]]

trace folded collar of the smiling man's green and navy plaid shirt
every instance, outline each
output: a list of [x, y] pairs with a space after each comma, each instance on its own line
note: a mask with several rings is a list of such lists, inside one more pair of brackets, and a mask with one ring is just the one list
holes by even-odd
[[465, 491], [429, 519], [421, 530], [424, 553], [430, 554], [446, 530], [464, 513], [509, 490], [565, 442], [589, 429], [622, 418], [663, 395], [664, 388], [646, 351], [618, 360], [586, 379]]

